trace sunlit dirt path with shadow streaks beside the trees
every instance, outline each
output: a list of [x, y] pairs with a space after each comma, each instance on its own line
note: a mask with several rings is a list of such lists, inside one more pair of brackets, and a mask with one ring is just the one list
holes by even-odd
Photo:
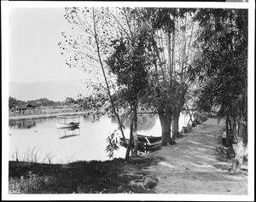
[[[166, 161], [151, 165], [148, 171], [160, 179], [157, 193], [247, 194], [247, 171], [230, 175], [230, 160], [220, 159], [218, 147], [224, 131], [224, 121], [208, 118], [197, 124], [176, 145], [162, 147], [154, 155]], [[247, 164], [242, 165], [247, 170]]]

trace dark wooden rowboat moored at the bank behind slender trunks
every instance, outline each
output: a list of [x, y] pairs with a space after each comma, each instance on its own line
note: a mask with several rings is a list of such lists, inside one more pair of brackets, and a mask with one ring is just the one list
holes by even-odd
[[[160, 149], [161, 147], [161, 136], [143, 136], [137, 135], [138, 139], [138, 149], [140, 151], [154, 151]], [[119, 144], [122, 147], [127, 147], [129, 143], [129, 139], [120, 137]], [[134, 147], [134, 143], [132, 142], [132, 147]]]

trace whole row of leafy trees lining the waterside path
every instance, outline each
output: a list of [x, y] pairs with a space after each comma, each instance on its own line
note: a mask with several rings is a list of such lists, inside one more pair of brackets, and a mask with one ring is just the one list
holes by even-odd
[[[179, 114], [194, 99], [193, 90], [199, 109], [220, 107], [219, 114], [231, 122], [227, 131], [232, 130], [243, 151], [247, 10], [66, 8], [65, 18], [73, 31], [62, 32], [64, 41], [58, 45], [67, 65], [90, 73], [93, 100], [110, 103], [106, 109], [118, 119], [122, 136], [123, 122], [130, 118], [125, 159], [132, 141], [137, 156], [138, 107], [158, 113], [162, 146], [173, 144], [179, 137]], [[108, 141], [116, 148], [116, 136]], [[241, 155], [237, 153], [233, 171], [240, 169]]]

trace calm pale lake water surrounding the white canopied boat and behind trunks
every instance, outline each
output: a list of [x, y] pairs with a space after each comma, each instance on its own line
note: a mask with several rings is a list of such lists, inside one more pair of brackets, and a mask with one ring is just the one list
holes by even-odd
[[[180, 128], [189, 116], [181, 114]], [[9, 159], [37, 159], [38, 162], [68, 163], [75, 160], [107, 160], [106, 138], [117, 129], [116, 120], [102, 116], [94, 121], [93, 115], [79, 118], [76, 130], [56, 129], [56, 118], [9, 122]], [[129, 137], [129, 123], [125, 123], [125, 136]], [[160, 120], [155, 114], [138, 117], [138, 134], [160, 136]], [[124, 158], [125, 148], [119, 147], [113, 158]]]

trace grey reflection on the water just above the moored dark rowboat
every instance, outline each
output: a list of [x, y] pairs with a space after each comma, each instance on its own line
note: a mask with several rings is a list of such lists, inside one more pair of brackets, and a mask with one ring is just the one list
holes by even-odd
[[[157, 120], [157, 114], [154, 113], [138, 113], [137, 116], [137, 130], [151, 130]], [[118, 120], [116, 117], [111, 118], [113, 124], [117, 124]], [[130, 128], [130, 119], [126, 118], [124, 121], [124, 126], [126, 129]]]

